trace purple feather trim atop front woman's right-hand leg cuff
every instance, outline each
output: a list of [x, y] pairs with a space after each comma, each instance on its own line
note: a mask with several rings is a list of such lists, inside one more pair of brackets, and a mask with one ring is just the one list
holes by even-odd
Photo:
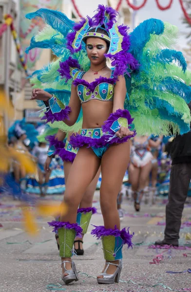
[[95, 229], [91, 231], [91, 234], [96, 236], [97, 239], [100, 239], [102, 236], [115, 236], [115, 237], [121, 237], [124, 240], [124, 244], [128, 245], [128, 248], [133, 248], [132, 238], [134, 236], [133, 234], [129, 233], [129, 228], [126, 230], [126, 228], [123, 228], [122, 230], [119, 230], [116, 225], [115, 228], [109, 228], [106, 229], [104, 226], [95, 226]]

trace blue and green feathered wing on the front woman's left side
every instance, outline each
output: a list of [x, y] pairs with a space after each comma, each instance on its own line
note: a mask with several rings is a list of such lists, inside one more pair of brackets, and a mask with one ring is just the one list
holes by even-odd
[[[71, 55], [70, 50], [67, 48], [67, 36], [73, 32], [75, 22], [66, 17], [65, 14], [41, 8], [34, 13], [26, 15], [26, 18], [42, 18], [46, 23], [43, 30], [31, 39], [29, 50], [33, 48], [46, 48], [51, 49], [57, 60], [44, 66], [42, 69], [35, 71], [30, 76], [30, 82], [36, 88], [44, 89], [51, 94], [55, 94], [64, 105], [68, 105], [70, 100], [72, 79], [67, 82], [59, 75], [58, 69], [60, 62], [68, 60]], [[77, 60], [80, 67], [87, 71], [90, 67], [90, 61], [87, 57], [85, 46], [82, 49], [73, 54], [73, 59]], [[37, 101], [40, 107], [44, 107], [43, 102]], [[42, 115], [42, 114], [41, 114]], [[78, 131], [82, 124], [82, 111], [80, 111], [77, 123], [73, 127], [68, 127], [62, 122], [54, 122], [50, 124], [52, 128], [60, 128], [63, 131]]]

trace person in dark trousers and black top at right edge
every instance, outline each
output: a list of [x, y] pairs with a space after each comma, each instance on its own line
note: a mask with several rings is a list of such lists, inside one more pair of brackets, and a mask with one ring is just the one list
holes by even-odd
[[[191, 103], [188, 106], [191, 110]], [[178, 246], [182, 212], [191, 181], [191, 131], [174, 138], [171, 157], [172, 168], [169, 202], [166, 206], [165, 237], [163, 240], [157, 240], [155, 245]]]

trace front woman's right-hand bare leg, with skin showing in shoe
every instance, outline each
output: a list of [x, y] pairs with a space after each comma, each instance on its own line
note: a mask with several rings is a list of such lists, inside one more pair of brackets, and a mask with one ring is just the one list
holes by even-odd
[[[120, 229], [116, 200], [129, 163], [129, 155], [129, 142], [126, 142], [110, 146], [101, 160], [100, 206], [105, 228], [114, 229], [116, 225]], [[118, 262], [118, 260], [113, 261], [116, 264]], [[113, 274], [115, 270], [116, 266], [110, 265], [107, 274]]]

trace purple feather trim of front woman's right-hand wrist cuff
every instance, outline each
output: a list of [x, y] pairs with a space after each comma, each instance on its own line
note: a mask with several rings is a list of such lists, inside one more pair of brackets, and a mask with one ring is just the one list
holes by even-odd
[[104, 122], [104, 125], [101, 127], [103, 132], [109, 132], [109, 133], [113, 134], [114, 131], [111, 129], [111, 126], [118, 118], [126, 118], [128, 125], [132, 124], [132, 122], [134, 120], [131, 117], [129, 110], [118, 109], [115, 112], [111, 113], [109, 118], [107, 119], [107, 121]]

